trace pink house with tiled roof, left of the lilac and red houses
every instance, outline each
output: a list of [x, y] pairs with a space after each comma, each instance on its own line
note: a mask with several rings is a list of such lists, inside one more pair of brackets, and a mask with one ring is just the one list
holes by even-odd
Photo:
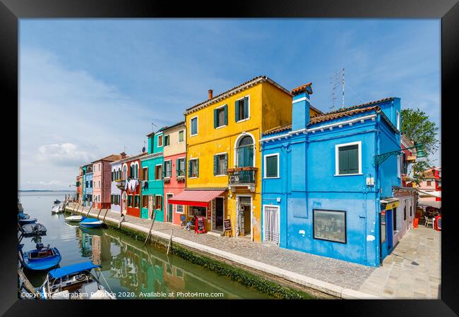
[[113, 161], [121, 159], [121, 154], [112, 154], [93, 161], [93, 201], [94, 208], [110, 208]]

